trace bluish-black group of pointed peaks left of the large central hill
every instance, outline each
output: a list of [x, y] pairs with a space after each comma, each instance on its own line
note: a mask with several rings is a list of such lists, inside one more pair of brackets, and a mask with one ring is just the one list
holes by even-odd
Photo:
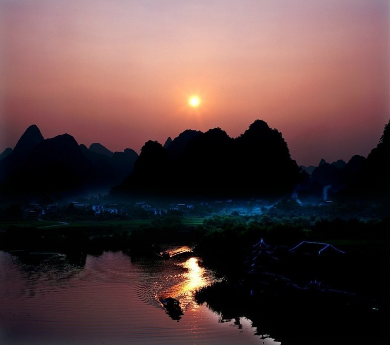
[[1, 157], [2, 193], [34, 195], [109, 190], [133, 172], [138, 154], [132, 149], [113, 153], [99, 143], [87, 148], [69, 134], [44, 139], [31, 125]]

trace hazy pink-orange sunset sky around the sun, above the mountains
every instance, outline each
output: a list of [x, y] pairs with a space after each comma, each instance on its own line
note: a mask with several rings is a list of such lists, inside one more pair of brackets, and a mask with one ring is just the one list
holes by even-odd
[[0, 151], [31, 124], [139, 152], [261, 119], [298, 164], [367, 156], [390, 118], [389, 19], [389, 0], [0, 0]]

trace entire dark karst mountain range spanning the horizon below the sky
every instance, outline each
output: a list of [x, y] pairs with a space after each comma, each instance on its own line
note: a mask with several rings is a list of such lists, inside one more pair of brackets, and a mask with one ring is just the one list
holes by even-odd
[[[390, 123], [390, 122], [389, 122]], [[250, 197], [300, 192], [327, 195], [390, 191], [390, 124], [369, 156], [299, 167], [282, 134], [256, 120], [238, 138], [220, 128], [185, 130], [164, 145], [148, 141], [138, 154], [86, 147], [69, 134], [44, 139], [27, 128], [0, 155], [0, 190], [7, 195], [72, 194], [113, 187], [112, 193]]]

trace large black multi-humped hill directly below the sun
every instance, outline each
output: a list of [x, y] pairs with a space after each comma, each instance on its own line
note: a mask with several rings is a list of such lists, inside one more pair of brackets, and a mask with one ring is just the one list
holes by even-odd
[[[177, 145], [177, 146], [176, 146]], [[185, 131], [167, 149], [147, 142], [115, 191], [249, 196], [291, 192], [302, 174], [281, 133], [256, 121], [237, 139], [220, 128]]]

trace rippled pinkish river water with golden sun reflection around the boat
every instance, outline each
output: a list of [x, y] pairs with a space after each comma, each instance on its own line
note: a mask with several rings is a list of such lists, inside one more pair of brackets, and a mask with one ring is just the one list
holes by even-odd
[[[195, 302], [195, 289], [216, 278], [194, 257], [0, 251], [0, 278], [0, 344], [280, 344]], [[164, 297], [181, 302], [179, 320]]]

